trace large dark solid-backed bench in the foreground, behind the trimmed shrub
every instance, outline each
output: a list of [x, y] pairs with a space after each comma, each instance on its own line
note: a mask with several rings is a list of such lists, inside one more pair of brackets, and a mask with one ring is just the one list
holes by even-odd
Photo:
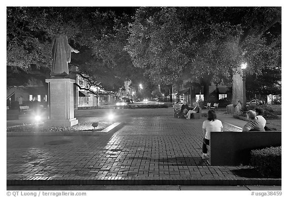
[[211, 132], [210, 165], [249, 165], [250, 151], [281, 145], [281, 131]]

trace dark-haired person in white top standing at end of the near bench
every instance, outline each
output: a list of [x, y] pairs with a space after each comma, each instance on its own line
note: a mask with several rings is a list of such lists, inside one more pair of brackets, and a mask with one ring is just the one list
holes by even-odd
[[210, 144], [210, 132], [221, 132], [223, 130], [222, 122], [216, 118], [215, 111], [210, 109], [207, 112], [207, 120], [203, 122], [202, 131], [204, 139], [202, 144], [202, 159], [207, 157], [207, 145]]

